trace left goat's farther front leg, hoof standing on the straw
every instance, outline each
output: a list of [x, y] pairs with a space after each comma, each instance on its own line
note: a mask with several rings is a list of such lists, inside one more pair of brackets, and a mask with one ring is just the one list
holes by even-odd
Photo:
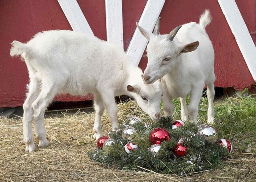
[[94, 94], [94, 109], [95, 109], [95, 122], [93, 126], [93, 131], [94, 131], [94, 139], [99, 139], [100, 137], [103, 136], [102, 131], [101, 131], [101, 116], [103, 115], [104, 112], [104, 105], [103, 101], [100, 95]]

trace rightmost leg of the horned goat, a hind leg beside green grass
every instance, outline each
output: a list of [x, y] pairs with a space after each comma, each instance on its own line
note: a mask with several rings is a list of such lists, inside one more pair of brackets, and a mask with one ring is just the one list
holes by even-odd
[[207, 123], [214, 123], [214, 107], [213, 107], [213, 99], [215, 95], [213, 82], [207, 84], [207, 99], [208, 99], [208, 111], [207, 111]]

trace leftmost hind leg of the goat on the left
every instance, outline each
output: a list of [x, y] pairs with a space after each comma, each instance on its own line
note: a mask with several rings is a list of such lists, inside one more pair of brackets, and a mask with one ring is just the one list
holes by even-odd
[[32, 152], [36, 149], [32, 135], [32, 115], [33, 110], [31, 104], [36, 100], [40, 92], [40, 84], [36, 78], [31, 77], [28, 85], [29, 92], [27, 98], [23, 104], [23, 142], [26, 144], [26, 152]]

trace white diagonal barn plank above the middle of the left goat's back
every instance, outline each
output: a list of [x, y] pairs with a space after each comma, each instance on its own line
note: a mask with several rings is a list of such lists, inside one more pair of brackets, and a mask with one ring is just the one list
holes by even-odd
[[94, 35], [76, 0], [58, 0], [58, 2], [73, 31]]

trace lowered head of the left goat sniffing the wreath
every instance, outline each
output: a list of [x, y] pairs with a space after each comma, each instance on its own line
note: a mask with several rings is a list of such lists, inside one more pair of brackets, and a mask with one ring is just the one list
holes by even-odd
[[146, 112], [154, 121], [160, 118], [160, 102], [163, 95], [163, 90], [160, 80], [157, 80], [153, 84], [146, 84], [143, 78], [143, 82], [138, 82], [137, 85], [128, 85], [127, 91], [133, 92], [133, 97], [136, 99], [139, 107]]

